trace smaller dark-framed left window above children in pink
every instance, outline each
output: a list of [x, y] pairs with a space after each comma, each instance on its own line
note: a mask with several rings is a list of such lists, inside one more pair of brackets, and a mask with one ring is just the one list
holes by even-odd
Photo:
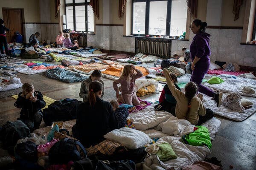
[[90, 0], [65, 0], [67, 29], [94, 32], [94, 15]]

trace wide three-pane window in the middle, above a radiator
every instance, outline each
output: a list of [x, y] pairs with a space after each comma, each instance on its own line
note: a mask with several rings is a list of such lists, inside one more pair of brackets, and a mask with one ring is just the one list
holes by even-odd
[[133, 0], [132, 34], [180, 36], [186, 31], [186, 0]]

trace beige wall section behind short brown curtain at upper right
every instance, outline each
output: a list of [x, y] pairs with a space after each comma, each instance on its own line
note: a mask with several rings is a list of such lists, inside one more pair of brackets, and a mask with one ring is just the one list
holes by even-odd
[[245, 3], [240, 7], [239, 19], [236, 21], [234, 21], [233, 4], [234, 0], [222, 0], [221, 26], [243, 26]]

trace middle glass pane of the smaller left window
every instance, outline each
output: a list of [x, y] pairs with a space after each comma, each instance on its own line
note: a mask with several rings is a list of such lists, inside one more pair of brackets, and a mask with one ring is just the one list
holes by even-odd
[[76, 31], [85, 31], [85, 6], [75, 6]]

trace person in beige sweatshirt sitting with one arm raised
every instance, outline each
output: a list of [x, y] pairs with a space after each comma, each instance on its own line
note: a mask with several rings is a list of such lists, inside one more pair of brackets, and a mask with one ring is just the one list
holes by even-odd
[[183, 94], [175, 87], [168, 70], [163, 69], [163, 72], [167, 85], [177, 101], [176, 107], [171, 111], [174, 116], [178, 119], [186, 119], [193, 125], [201, 125], [214, 116], [213, 111], [205, 108], [201, 99], [196, 96], [198, 87], [194, 82], [186, 84], [185, 94]]

